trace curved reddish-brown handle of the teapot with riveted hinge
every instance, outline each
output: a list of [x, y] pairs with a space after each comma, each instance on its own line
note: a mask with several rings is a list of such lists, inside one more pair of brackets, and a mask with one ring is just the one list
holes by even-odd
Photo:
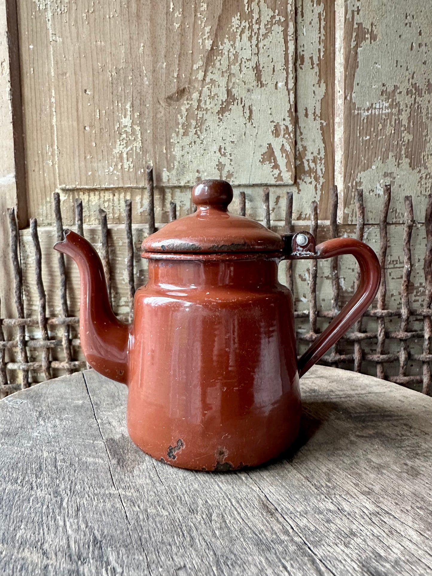
[[381, 268], [372, 248], [355, 238], [332, 238], [317, 247], [309, 232], [286, 234], [283, 240], [286, 260], [323, 259], [352, 254], [359, 264], [361, 274], [351, 300], [298, 360], [298, 375], [301, 378], [366, 311], [380, 287]]

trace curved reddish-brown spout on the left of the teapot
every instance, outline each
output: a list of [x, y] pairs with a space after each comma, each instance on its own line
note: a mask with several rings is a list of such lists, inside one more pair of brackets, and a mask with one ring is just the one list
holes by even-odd
[[130, 326], [120, 322], [109, 304], [100, 257], [90, 242], [65, 229], [54, 249], [71, 256], [79, 269], [81, 298], [79, 336], [86, 361], [97, 372], [127, 384]]

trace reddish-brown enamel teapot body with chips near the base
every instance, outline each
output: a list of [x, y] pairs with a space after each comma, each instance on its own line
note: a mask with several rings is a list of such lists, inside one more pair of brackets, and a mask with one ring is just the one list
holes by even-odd
[[301, 414], [293, 297], [268, 255], [150, 255], [127, 426], [158, 460], [228, 470], [287, 449]]

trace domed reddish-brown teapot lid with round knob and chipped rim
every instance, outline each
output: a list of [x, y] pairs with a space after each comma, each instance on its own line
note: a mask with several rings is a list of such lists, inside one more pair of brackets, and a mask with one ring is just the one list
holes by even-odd
[[147, 236], [143, 252], [215, 253], [275, 252], [283, 248], [279, 234], [245, 216], [230, 214], [233, 189], [225, 180], [203, 180], [192, 190], [198, 210], [169, 222]]

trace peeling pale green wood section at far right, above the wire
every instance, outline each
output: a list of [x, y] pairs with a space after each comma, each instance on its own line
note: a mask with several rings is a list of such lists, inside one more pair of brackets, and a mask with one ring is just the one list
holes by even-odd
[[432, 184], [430, 0], [338, 0], [336, 14], [340, 216], [355, 219], [355, 188], [362, 187], [365, 221], [377, 223], [391, 183], [389, 222], [403, 221], [406, 194], [424, 222]]

